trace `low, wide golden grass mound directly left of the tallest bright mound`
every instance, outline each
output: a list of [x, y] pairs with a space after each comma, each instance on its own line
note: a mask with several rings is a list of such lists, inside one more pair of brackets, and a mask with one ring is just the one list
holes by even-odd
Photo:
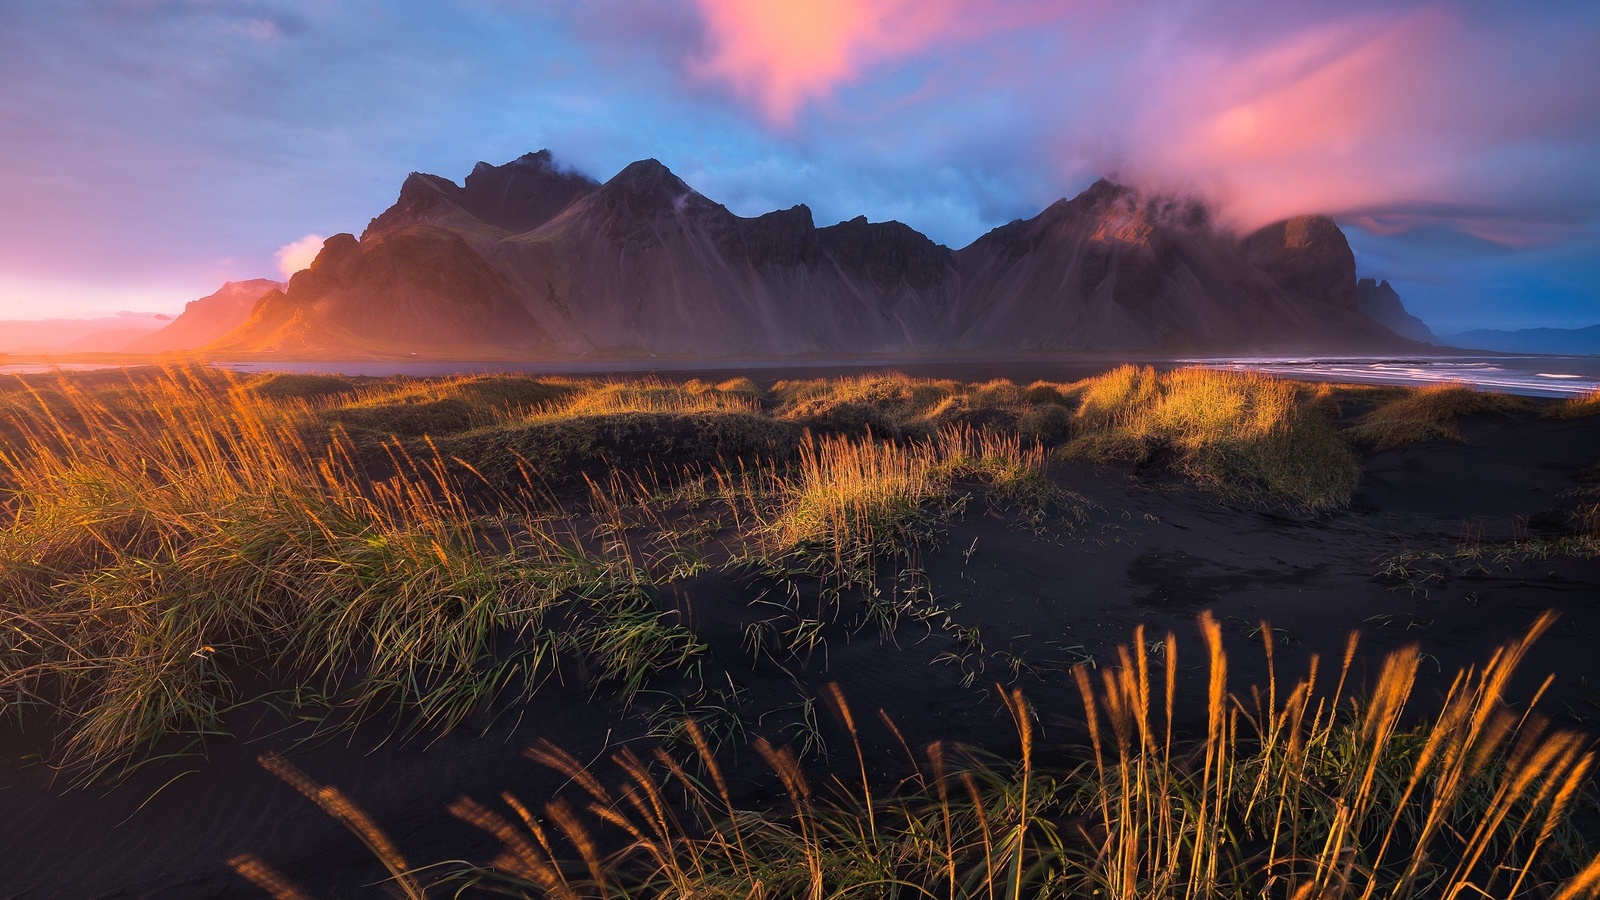
[[1070, 388], [1005, 380], [970, 384], [901, 373], [779, 381], [774, 415], [821, 434], [928, 437], [941, 428], [1006, 431], [1054, 442], [1070, 423]]

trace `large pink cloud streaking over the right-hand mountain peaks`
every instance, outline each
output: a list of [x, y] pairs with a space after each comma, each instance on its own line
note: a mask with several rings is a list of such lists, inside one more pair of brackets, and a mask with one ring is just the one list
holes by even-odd
[[1189, 183], [1254, 226], [1304, 211], [1453, 197], [1461, 125], [1446, 58], [1459, 22], [1437, 10], [1312, 26], [1251, 53], [1194, 51], [1142, 74], [1128, 167]]

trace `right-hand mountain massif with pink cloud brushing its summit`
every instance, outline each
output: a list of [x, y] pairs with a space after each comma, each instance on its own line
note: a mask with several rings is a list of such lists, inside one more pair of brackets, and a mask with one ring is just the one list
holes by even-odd
[[1098, 181], [958, 251], [962, 349], [1306, 351], [1395, 336], [1355, 309], [1333, 219], [1243, 240], [1194, 200]]

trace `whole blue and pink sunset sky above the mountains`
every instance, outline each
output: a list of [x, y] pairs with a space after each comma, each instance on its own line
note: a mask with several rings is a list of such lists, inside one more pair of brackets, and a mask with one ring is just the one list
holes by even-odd
[[1333, 215], [1440, 333], [1592, 325], [1595, 46], [1595, 0], [0, 0], [0, 319], [176, 312], [549, 149], [957, 248], [1114, 176]]

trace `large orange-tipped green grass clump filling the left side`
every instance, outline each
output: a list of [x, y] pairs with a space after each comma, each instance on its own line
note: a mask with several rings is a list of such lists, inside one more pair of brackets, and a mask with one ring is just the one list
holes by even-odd
[[[445, 729], [531, 690], [562, 653], [610, 677], [610, 626], [654, 615], [626, 560], [483, 522], [442, 458], [395, 448], [397, 472], [371, 480], [346, 444], [310, 448], [304, 402], [211, 378], [130, 381], [115, 405], [61, 381], [66, 412], [8, 418], [22, 437], [0, 450], [0, 713], [56, 713], [62, 759], [104, 767], [214, 733], [251, 700], [234, 681], [250, 669]], [[512, 546], [483, 549], [483, 525]], [[667, 631], [661, 665], [693, 642]]]

